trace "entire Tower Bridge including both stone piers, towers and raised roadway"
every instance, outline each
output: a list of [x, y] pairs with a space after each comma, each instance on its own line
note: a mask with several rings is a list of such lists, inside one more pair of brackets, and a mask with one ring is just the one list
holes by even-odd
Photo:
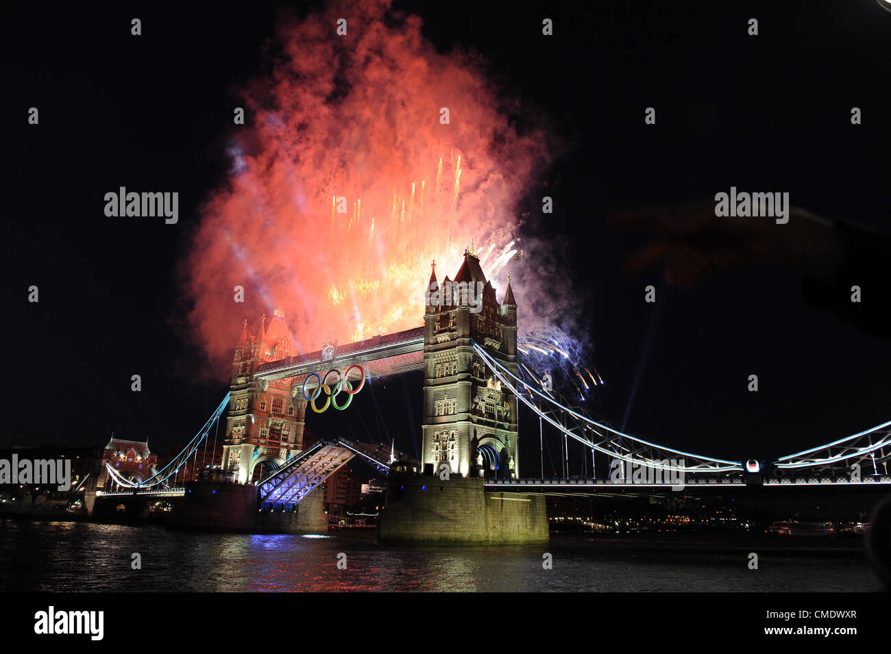
[[[305, 354], [292, 351], [281, 311], [262, 317], [256, 335], [245, 321], [230, 392], [200, 432], [160, 471], [126, 475], [105, 462], [103, 479], [118, 490], [105, 495], [115, 502], [182, 497], [171, 529], [318, 532], [327, 518], [316, 489], [359, 456], [388, 475], [380, 542], [496, 545], [546, 542], [546, 495], [659, 492], [677, 489], [679, 479], [698, 492], [891, 485], [891, 422], [794, 455], [743, 463], [668, 448], [597, 420], [521, 365], [510, 278], [499, 303], [470, 249], [454, 279], [440, 282], [434, 265], [427, 298], [422, 327], [323, 343]], [[412, 370], [424, 373], [420, 461], [345, 438], [305, 442], [307, 409], [309, 416], [348, 410], [365, 384]], [[570, 441], [590, 451], [591, 469], [601, 476], [521, 479], [520, 405], [539, 418], [539, 429], [527, 435], [538, 437], [535, 449], [542, 448], [546, 425], [566, 451]], [[221, 468], [184, 488], [171, 484], [190, 462], [195, 469], [199, 449], [215, 438], [224, 414]], [[639, 479], [640, 470], [657, 474]], [[102, 495], [102, 489], [92, 492]]]

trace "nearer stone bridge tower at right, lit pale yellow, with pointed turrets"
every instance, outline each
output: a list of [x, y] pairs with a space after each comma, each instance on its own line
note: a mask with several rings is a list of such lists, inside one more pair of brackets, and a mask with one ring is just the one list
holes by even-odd
[[[472, 248], [454, 280], [430, 274], [424, 312], [421, 462], [464, 476], [516, 478], [517, 398], [486, 369], [476, 342], [517, 374], [517, 304], [508, 279], [503, 303]], [[425, 465], [426, 467], [426, 465]]]

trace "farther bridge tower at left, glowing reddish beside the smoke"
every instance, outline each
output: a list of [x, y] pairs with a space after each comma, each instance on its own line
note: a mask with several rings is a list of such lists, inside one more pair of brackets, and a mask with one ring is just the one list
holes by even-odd
[[293, 396], [289, 380], [254, 378], [260, 364], [289, 357], [291, 342], [278, 309], [268, 326], [263, 315], [257, 335], [249, 334], [247, 320], [243, 323], [233, 359], [223, 443], [223, 468], [233, 471], [239, 483], [248, 483], [303, 450], [307, 402]]

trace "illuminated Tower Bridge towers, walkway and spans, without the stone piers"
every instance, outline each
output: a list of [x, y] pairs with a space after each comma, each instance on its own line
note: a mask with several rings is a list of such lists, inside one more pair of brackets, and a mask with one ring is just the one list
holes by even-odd
[[[355, 456], [381, 473], [389, 472], [393, 464], [402, 464], [401, 472], [446, 471], [463, 479], [482, 477], [490, 491], [598, 493], [620, 488], [655, 491], [679, 485], [705, 490], [891, 484], [887, 474], [891, 422], [788, 456], [762, 458], [745, 453], [739, 460], [683, 451], [621, 432], [532, 374], [535, 367], [518, 351], [517, 302], [510, 280], [499, 302], [477, 257], [466, 252], [454, 279], [446, 277], [439, 287], [433, 274], [430, 288], [438, 289], [439, 295], [436, 302], [428, 303], [422, 327], [340, 346], [326, 343], [322, 350], [295, 357], [270, 360], [275, 350], [266, 351], [266, 343], [274, 343], [274, 339], [264, 341], [269, 333], [261, 327], [259, 338], [252, 336], [248, 342], [245, 323], [235, 361], [236, 367], [245, 366], [247, 372], [236, 373], [232, 391], [183, 451], [148, 480], [127, 480], [110, 466], [108, 473], [131, 493], [181, 493], [171, 487], [171, 480], [176, 485], [177, 472], [190, 457], [194, 460], [202, 444], [206, 447], [208, 434], [227, 412], [226, 469], [238, 469], [235, 466], [241, 464], [236, 480], [249, 483], [252, 473], [267, 460], [264, 473], [254, 477], [261, 510], [298, 505]], [[465, 301], [470, 289], [476, 289], [477, 303]], [[278, 320], [274, 327], [280, 329], [283, 324]], [[275, 338], [282, 342], [282, 335]], [[420, 461], [346, 439], [302, 447], [307, 405], [316, 413], [328, 408], [329, 402], [334, 408], [346, 409], [352, 394], [361, 391], [368, 380], [413, 370], [424, 373]], [[338, 404], [336, 398], [342, 392], [348, 397]], [[325, 402], [321, 410], [315, 405], [320, 397]], [[283, 400], [290, 404], [287, 411]], [[563, 476], [568, 477], [568, 443], [572, 441], [590, 452], [590, 478], [520, 478], [520, 406], [531, 411], [533, 419], [538, 418], [539, 470], [544, 468], [546, 424], [547, 438], [560, 439], [562, 451], [567, 453]], [[259, 423], [259, 432], [264, 424], [274, 425], [280, 416], [287, 416], [290, 424], [298, 427], [300, 438], [291, 439], [293, 434], [289, 434], [289, 438], [270, 444], [253, 432], [236, 432], [239, 421], [247, 421], [251, 429]], [[535, 445], [528, 435], [524, 442]], [[534, 456], [532, 449], [524, 456]], [[640, 471], [646, 476], [639, 479], [636, 474]]]

